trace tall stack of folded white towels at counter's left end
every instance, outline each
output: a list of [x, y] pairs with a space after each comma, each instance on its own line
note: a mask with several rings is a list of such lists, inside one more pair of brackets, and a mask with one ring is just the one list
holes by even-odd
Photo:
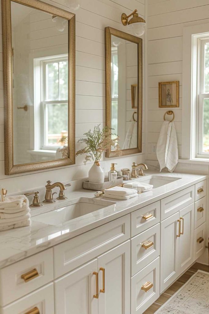
[[0, 231], [30, 225], [30, 208], [26, 196], [8, 196], [4, 202], [0, 202]]

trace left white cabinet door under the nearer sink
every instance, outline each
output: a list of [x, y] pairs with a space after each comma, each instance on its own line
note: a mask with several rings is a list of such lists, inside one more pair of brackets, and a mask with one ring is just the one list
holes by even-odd
[[97, 259], [55, 280], [56, 314], [98, 314]]

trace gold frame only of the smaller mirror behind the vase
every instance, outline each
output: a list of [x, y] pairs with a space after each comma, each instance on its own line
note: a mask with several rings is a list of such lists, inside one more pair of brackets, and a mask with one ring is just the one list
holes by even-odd
[[[122, 150], [122, 155], [142, 152], [142, 39], [124, 33], [111, 27], [105, 28], [105, 56], [106, 56], [106, 126], [111, 127], [111, 35], [131, 41], [138, 45], [138, 144], [136, 148]], [[118, 134], [120, 136], [120, 134]], [[111, 147], [106, 151], [106, 157], [115, 157]]]

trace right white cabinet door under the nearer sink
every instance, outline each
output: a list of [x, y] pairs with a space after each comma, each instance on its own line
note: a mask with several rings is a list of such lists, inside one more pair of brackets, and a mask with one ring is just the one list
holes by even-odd
[[98, 257], [98, 270], [99, 314], [129, 313], [130, 241]]

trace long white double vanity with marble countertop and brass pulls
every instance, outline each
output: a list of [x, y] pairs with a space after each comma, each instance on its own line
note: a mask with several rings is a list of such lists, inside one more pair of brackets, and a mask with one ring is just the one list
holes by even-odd
[[142, 314], [205, 250], [206, 179], [152, 173], [133, 199], [69, 189], [31, 208], [0, 235], [1, 314]]

